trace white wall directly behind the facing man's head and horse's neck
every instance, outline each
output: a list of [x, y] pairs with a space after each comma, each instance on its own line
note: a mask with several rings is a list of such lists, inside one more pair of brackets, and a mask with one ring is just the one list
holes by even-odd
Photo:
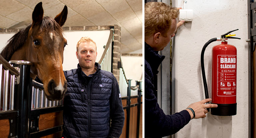
[[[77, 68], [78, 59], [76, 58], [76, 44], [81, 37], [90, 37], [97, 45], [98, 62], [104, 52], [103, 46], [107, 44], [110, 30], [97, 31], [65, 31], [64, 38], [67, 39], [67, 46], [64, 49], [63, 70]], [[5, 47], [6, 42], [14, 35], [14, 33], [0, 34], [0, 50]]]

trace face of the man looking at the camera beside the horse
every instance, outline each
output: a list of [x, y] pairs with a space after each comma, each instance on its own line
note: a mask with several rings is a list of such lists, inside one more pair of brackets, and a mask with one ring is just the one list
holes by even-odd
[[76, 57], [79, 61], [79, 65], [84, 69], [94, 68], [94, 64], [97, 57], [96, 46], [92, 42], [80, 43]]

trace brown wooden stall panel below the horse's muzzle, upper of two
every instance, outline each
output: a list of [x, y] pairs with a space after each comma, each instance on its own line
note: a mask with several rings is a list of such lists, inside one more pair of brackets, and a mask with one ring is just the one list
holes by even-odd
[[39, 117], [39, 130], [52, 128], [63, 124], [63, 111], [41, 114]]

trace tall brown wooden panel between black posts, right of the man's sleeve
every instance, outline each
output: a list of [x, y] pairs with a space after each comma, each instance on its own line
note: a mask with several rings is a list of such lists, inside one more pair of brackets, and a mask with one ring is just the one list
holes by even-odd
[[130, 126], [129, 126], [129, 138], [136, 138], [137, 133], [137, 106], [131, 107], [130, 110]]

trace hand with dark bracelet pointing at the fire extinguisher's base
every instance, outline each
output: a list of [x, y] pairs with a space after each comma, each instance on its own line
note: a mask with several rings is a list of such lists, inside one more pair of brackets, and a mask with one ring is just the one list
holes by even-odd
[[[201, 100], [199, 102], [195, 102], [195, 103], [192, 103], [188, 106], [188, 108], [192, 108], [194, 111], [195, 111], [195, 118], [204, 118], [206, 117], [206, 113], [208, 113], [208, 110], [206, 108], [215, 108], [217, 107], [218, 105], [217, 104], [205, 104], [206, 102], [209, 102], [211, 101], [212, 99], [204, 99], [204, 100]], [[191, 116], [191, 119], [193, 118], [193, 113], [191, 110], [189, 109], [186, 109], [190, 116]]]

